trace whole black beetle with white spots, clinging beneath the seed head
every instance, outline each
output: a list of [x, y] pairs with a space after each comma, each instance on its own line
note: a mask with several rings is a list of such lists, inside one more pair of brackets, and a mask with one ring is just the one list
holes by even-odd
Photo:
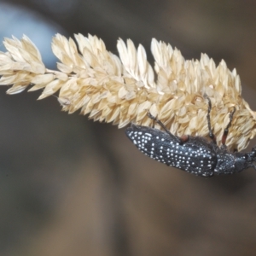
[[177, 137], [149, 112], [148, 118], [153, 119], [164, 131], [132, 124], [126, 128], [125, 133], [143, 154], [167, 166], [173, 166], [197, 176], [212, 177], [214, 174], [232, 174], [249, 167], [256, 169], [254, 164], [256, 146], [251, 152], [231, 153], [225, 145], [236, 108], [230, 113], [230, 122], [224, 129], [222, 145], [218, 147], [211, 128], [212, 102], [208, 96], [206, 97], [208, 100], [207, 125], [211, 140], [207, 140], [206, 137]]

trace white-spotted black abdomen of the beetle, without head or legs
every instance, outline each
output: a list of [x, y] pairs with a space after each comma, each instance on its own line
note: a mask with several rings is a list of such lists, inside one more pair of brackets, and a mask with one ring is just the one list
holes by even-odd
[[214, 146], [202, 137], [189, 137], [180, 144], [164, 131], [137, 125], [127, 128], [126, 135], [143, 154], [167, 166], [204, 177], [213, 175], [217, 156]]

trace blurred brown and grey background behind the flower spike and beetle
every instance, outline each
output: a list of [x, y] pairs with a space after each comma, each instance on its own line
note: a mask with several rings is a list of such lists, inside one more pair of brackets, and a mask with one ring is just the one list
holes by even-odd
[[[117, 39], [131, 38], [150, 61], [151, 38], [187, 59], [201, 52], [224, 58], [256, 109], [255, 1], [0, 1], [1, 41], [26, 34], [51, 68], [56, 32], [96, 34], [116, 54]], [[141, 154], [124, 129], [61, 112], [53, 96], [37, 102], [40, 92], [6, 90], [0, 88], [0, 255], [256, 254], [254, 170], [194, 177]]]

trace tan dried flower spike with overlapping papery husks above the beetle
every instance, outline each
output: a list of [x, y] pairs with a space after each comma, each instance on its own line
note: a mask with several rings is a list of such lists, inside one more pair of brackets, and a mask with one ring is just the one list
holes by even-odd
[[[52, 49], [59, 71], [44, 67], [41, 55], [29, 38], [5, 38], [8, 50], [0, 53], [0, 84], [13, 84], [8, 94], [20, 93], [28, 85], [44, 89], [39, 99], [59, 90], [62, 109], [90, 113], [89, 118], [113, 122], [123, 127], [129, 123], [152, 126], [147, 110], [157, 116], [176, 135], [207, 137], [207, 101], [212, 101], [212, 129], [221, 141], [229, 114], [236, 114], [227, 140], [229, 148], [241, 150], [255, 136], [256, 113], [241, 98], [241, 82], [221, 61], [202, 54], [201, 60], [185, 61], [178, 49], [153, 39], [154, 70], [148, 64], [143, 45], [136, 49], [130, 39], [118, 40], [119, 57], [106, 50], [96, 36], [72, 38], [57, 34]], [[160, 127], [159, 127], [160, 128]]]

